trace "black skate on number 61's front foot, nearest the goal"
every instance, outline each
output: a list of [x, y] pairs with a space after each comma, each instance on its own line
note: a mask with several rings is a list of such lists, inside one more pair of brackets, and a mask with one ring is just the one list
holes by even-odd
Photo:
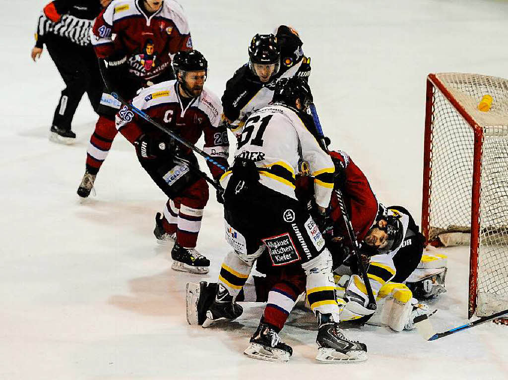
[[330, 314], [317, 312], [317, 315], [320, 322], [316, 337], [317, 360], [325, 363], [367, 360], [367, 346], [364, 343], [348, 339]]

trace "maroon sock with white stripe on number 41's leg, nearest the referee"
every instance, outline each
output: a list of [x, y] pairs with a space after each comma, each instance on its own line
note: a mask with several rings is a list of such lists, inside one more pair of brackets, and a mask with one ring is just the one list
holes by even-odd
[[102, 163], [106, 159], [116, 130], [115, 121], [111, 117], [99, 116], [96, 128], [90, 137], [90, 143], [86, 150], [86, 170], [93, 175], [97, 175]]

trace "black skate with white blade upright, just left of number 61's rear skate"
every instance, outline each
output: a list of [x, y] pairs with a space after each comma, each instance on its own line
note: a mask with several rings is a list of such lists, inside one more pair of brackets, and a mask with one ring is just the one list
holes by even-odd
[[202, 325], [206, 320], [206, 311], [215, 300], [217, 283], [199, 284], [187, 283], [185, 306], [187, 310], [187, 323], [189, 325]]

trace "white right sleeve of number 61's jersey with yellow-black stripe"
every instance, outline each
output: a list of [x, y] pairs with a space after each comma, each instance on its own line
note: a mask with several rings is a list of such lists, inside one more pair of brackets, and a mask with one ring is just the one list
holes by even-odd
[[314, 177], [316, 203], [323, 208], [330, 204], [333, 190], [335, 166], [330, 156], [321, 149], [314, 136], [305, 128], [303, 122], [297, 123], [302, 158], [309, 163], [310, 174]]

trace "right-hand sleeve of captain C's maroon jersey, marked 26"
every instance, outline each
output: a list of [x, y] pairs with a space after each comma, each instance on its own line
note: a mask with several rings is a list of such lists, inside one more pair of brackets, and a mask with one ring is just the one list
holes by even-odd
[[[210, 101], [207, 107], [209, 122], [203, 128], [205, 145], [203, 151], [224, 167], [228, 167], [229, 140], [228, 130], [224, 123], [220, 122], [222, 107], [218, 99]], [[215, 180], [224, 174], [224, 170], [207, 161], [208, 168]]]

